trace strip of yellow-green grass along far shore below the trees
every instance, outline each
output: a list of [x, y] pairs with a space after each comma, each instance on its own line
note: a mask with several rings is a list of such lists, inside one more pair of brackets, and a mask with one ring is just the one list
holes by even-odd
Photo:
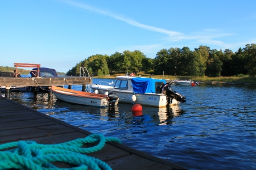
[[[110, 76], [95, 76], [95, 78], [115, 78], [118, 75], [125, 75], [126, 73], [115, 73]], [[174, 76], [174, 75], [152, 75], [144, 72], [138, 72], [137, 76], [150, 77], [156, 79], [180, 79], [180, 80], [195, 80], [197, 82], [243, 82], [243, 83], [256, 83], [256, 77], [249, 75], [238, 75], [238, 76]]]

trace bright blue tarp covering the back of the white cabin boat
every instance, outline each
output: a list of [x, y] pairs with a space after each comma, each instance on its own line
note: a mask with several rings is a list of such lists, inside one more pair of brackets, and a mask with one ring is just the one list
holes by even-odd
[[137, 94], [155, 93], [155, 82], [163, 82], [166, 80], [151, 79], [151, 78], [132, 78], [133, 91]]

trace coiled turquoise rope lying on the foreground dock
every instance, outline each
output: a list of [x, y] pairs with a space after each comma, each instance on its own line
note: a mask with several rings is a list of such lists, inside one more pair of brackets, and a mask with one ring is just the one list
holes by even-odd
[[[82, 148], [83, 145], [94, 142], [98, 142], [98, 144]], [[104, 137], [102, 134], [91, 134], [86, 138], [52, 145], [43, 145], [35, 141], [5, 143], [0, 145], [0, 169], [112, 169], [105, 162], [85, 155], [101, 150], [106, 142], [121, 143], [117, 138]], [[10, 149], [12, 147], [16, 148]], [[64, 162], [75, 167], [58, 168], [51, 162]]]

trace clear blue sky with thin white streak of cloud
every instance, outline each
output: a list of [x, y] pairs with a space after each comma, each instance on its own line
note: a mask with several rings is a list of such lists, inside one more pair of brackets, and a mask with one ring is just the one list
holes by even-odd
[[0, 1], [0, 66], [67, 72], [94, 54], [256, 43], [256, 1]]

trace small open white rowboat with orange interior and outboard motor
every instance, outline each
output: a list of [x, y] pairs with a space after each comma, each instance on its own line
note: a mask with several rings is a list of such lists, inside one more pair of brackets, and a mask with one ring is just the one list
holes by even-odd
[[118, 96], [114, 93], [100, 95], [56, 86], [52, 86], [51, 91], [59, 100], [94, 107], [108, 107], [108, 105], [117, 105], [119, 100]]

